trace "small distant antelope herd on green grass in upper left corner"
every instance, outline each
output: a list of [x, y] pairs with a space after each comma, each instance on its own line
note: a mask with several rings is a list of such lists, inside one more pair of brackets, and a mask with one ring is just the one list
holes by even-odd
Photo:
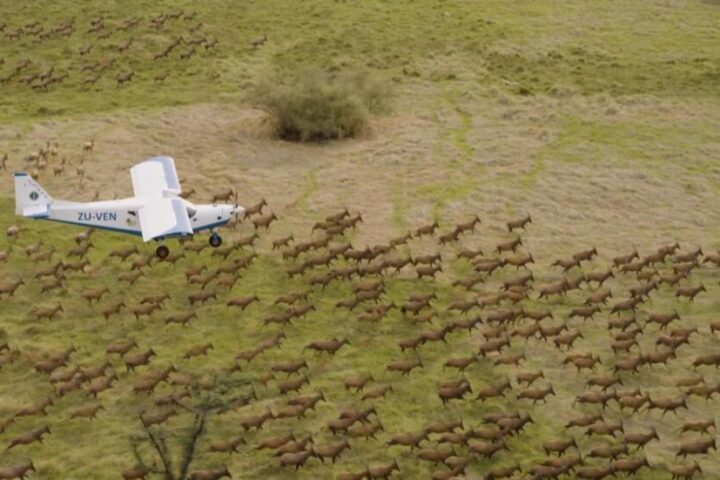
[[[172, 41], [155, 46], [159, 35], [172, 36]], [[108, 79], [108, 86], [121, 87], [136, 75], [128, 65], [137, 65], [138, 59], [151, 60], [149, 71], [142, 71], [140, 75], [157, 84], [170, 75], [172, 68], [167, 64], [168, 59], [188, 61], [196, 55], [211, 53], [219, 44], [218, 39], [206, 31], [204, 23], [197, 21], [195, 11], [182, 9], [148, 18], [134, 15], [111, 19], [101, 14], [87, 22], [74, 17], [47, 23], [0, 22], [0, 42], [22, 45], [26, 53], [32, 53], [38, 45], [57, 45], [69, 51], [70, 47], [65, 46], [77, 41], [83, 42], [80, 47], [72, 48], [71, 54], [63, 53], [62, 61], [49, 65], [42, 55], [24, 57], [14, 64], [0, 57], [0, 87], [20, 84], [36, 92], [47, 92], [53, 85], [69, 79], [88, 89], [102, 83], [104, 78]], [[250, 45], [256, 47], [257, 42], [250, 40]], [[171, 55], [174, 51], [178, 53]], [[151, 73], [158, 67], [159, 73]]]

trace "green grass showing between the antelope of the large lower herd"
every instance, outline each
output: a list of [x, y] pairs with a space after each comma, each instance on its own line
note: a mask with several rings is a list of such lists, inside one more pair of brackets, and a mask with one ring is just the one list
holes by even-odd
[[[3, 207], [0, 209], [0, 212], [3, 212], [0, 220], [7, 223], [11, 220], [9, 202], [2, 200], [0, 206]], [[278, 468], [276, 460], [267, 453], [253, 452], [244, 448], [242, 454], [227, 457], [208, 452], [207, 448], [211, 440], [230, 438], [239, 433], [238, 422], [245, 415], [259, 412], [267, 405], [272, 406], [274, 410], [279, 408], [283, 404], [283, 399], [277, 394], [275, 382], [271, 381], [267, 387], [264, 387], [257, 380], [262, 373], [268, 371], [270, 365], [300, 356], [305, 356], [310, 364], [308, 373], [311, 378], [311, 386], [305, 387], [304, 391], [322, 390], [325, 392], [328, 402], [320, 403], [317, 410], [308, 414], [305, 419], [299, 421], [274, 420], [261, 433], [244, 434], [250, 444], [268, 435], [288, 430], [296, 433], [313, 433], [316, 441], [319, 442], [331, 440], [323, 426], [335, 418], [340, 409], [358, 404], [359, 395], [345, 391], [342, 387], [342, 380], [349, 375], [361, 372], [370, 372], [377, 382], [391, 382], [395, 388], [395, 391], [385, 400], [372, 402], [378, 408], [379, 417], [386, 432], [417, 431], [429, 421], [441, 418], [461, 417], [468, 425], [478, 425], [482, 416], [490, 411], [519, 408], [532, 412], [536, 423], [529, 426], [523, 435], [509, 440], [511, 452], [501, 453], [493, 461], [476, 460], [472, 463], [470, 471], [477, 474], [482, 473], [490, 465], [511, 462], [517, 462], [525, 468], [529, 468], [532, 462], [542, 459], [540, 447], [543, 439], [563, 437], [559, 431], [562, 424], [574, 414], [579, 413], [577, 410], [575, 412], [565, 410], [553, 415], [548, 407], [532, 407], [526, 402], [515, 401], [512, 397], [485, 403], [451, 402], [446, 408], [442, 408], [435, 395], [438, 380], [458, 377], [457, 374], [446, 370], [443, 363], [449, 357], [467, 355], [474, 351], [477, 339], [471, 339], [472, 337], [464, 332], [453, 333], [449, 337], [447, 346], [429, 344], [420, 349], [419, 356], [425, 363], [423, 370], [415, 371], [409, 377], [400, 377], [397, 374], [385, 372], [384, 366], [390, 361], [413, 356], [412, 353], [401, 354], [399, 352], [395, 345], [399, 339], [417, 334], [419, 330], [433, 327], [430, 325], [427, 327], [415, 326], [395, 311], [377, 325], [358, 322], [353, 314], [333, 308], [338, 300], [351, 295], [351, 286], [347, 283], [335, 283], [325, 290], [314, 290], [311, 301], [318, 307], [318, 311], [287, 326], [284, 329], [287, 339], [283, 341], [280, 349], [263, 353], [250, 365], [243, 366], [241, 372], [228, 376], [223, 373], [223, 369], [231, 365], [231, 359], [235, 353], [252, 348], [257, 342], [278, 331], [276, 326], [263, 326], [262, 323], [265, 315], [279, 310], [278, 307], [271, 305], [272, 300], [281, 293], [304, 288], [302, 280], [289, 281], [285, 277], [284, 262], [280, 260], [277, 253], [269, 251], [267, 238], [272, 238], [272, 235], [266, 235], [260, 241], [258, 245], [260, 257], [243, 274], [235, 288], [221, 293], [217, 301], [197, 307], [199, 318], [194, 320], [191, 326], [183, 328], [164, 326], [162, 318], [167, 312], [188, 310], [185, 295], [188, 290], [197, 288], [185, 286], [182, 272], [191, 266], [200, 264], [217, 265], [218, 261], [213, 259], [207, 250], [200, 254], [188, 253], [187, 257], [181, 259], [174, 267], [165, 264], [152, 266], [146, 270], [145, 277], [141, 278], [136, 285], [127, 287], [118, 283], [116, 279], [120, 272], [129, 270], [129, 266], [123, 265], [117, 260], [107, 259], [107, 253], [113, 248], [127, 245], [132, 240], [111, 233], [99, 232], [94, 237], [97, 247], [89, 255], [92, 264], [99, 268], [97, 275], [88, 277], [82, 274], [69, 274], [65, 289], [40, 295], [38, 282], [29, 280], [35, 271], [35, 266], [26, 258], [22, 246], [42, 239], [46, 245], [52, 244], [62, 251], [73, 244], [70, 238], [77, 230], [73, 227], [41, 221], [22, 221], [19, 225], [22, 229], [21, 241], [12, 246], [7, 243], [0, 244], [0, 249], [11, 251], [10, 260], [0, 267], [1, 276], [3, 278], [20, 276], [28, 279], [28, 285], [21, 287], [12, 301], [2, 300], [3, 328], [7, 332], [7, 340], [13, 348], [22, 352], [22, 358], [14, 364], [3, 367], [0, 371], [3, 379], [0, 398], [4, 399], [0, 405], [0, 418], [6, 418], [20, 407], [52, 393], [52, 389], [42, 375], [30, 373], [32, 358], [38, 358], [42, 352], [57, 352], [69, 345], [75, 345], [78, 347], [78, 353], [73, 356], [71, 364], [97, 365], [103, 361], [104, 349], [107, 344], [113, 340], [127, 337], [137, 339], [141, 348], [152, 346], [156, 350], [158, 357], [153, 360], [152, 368], [172, 363], [179, 370], [192, 372], [198, 377], [209, 375], [223, 382], [237, 382], [238, 385], [250, 382], [254, 385], [259, 396], [257, 405], [251, 404], [236, 411], [211, 417], [208, 423], [209, 433], [200, 442], [199, 454], [193, 464], [197, 468], [224, 462], [230, 466], [231, 471], [238, 472], [241, 478], [295, 478], [295, 474]], [[483, 229], [477, 235], [482, 238]], [[532, 237], [532, 233], [528, 235]], [[175, 245], [171, 245], [171, 247], [177, 249]], [[411, 250], [415, 251], [418, 247], [419, 245], [413, 243]], [[148, 249], [149, 246], [142, 248], [144, 252]], [[449, 253], [452, 251], [452, 247], [445, 247], [443, 250]], [[237, 255], [234, 254], [234, 256]], [[543, 263], [545, 261], [541, 260]], [[447, 270], [445, 275], [451, 278], [466, 275], [467, 268], [462, 265], [463, 263], [462, 261], [453, 262], [453, 268]], [[535, 273], [539, 273], [545, 278], [539, 279], [538, 282], [544, 283], [552, 278], [548, 277], [550, 274], [542, 268], [536, 269]], [[498, 282], [513, 275], [510, 271], [501, 272], [494, 279], [482, 284], [481, 288], [484, 291], [492, 291], [497, 288]], [[694, 276], [697, 278], [691, 283], [703, 281], [706, 285], [710, 285], [713, 283], [713, 279], [717, 278], [717, 272], [703, 269]], [[630, 284], [632, 282], [628, 282], [628, 279], [622, 279], [611, 285], [611, 288], [619, 292], [621, 288], [627, 288]], [[170, 293], [171, 300], [161, 314], [155, 314], [149, 319], [136, 321], [126, 312], [106, 322], [96, 313], [97, 307], [89, 307], [85, 300], [79, 297], [83, 291], [99, 285], [107, 285], [111, 289], [111, 293], [100, 302], [101, 305], [107, 305], [111, 301], [119, 299], [124, 299], [129, 305], [134, 305], [142, 296], [160, 292]], [[209, 288], [214, 288], [213, 283]], [[692, 319], [691, 324], [703, 326], [714, 318], [712, 312], [717, 307], [717, 301], [713, 299], [714, 294], [712, 293], [715, 287], [712, 288], [711, 293], [701, 296], [698, 304], [692, 307], [686, 303], [674, 306], [671, 297], [672, 291], [663, 288], [644, 308], [650, 311], [666, 311], [670, 308], [677, 308], [684, 318]], [[387, 300], [401, 303], [409, 294], [418, 291], [437, 292], [439, 300], [435, 304], [435, 308], [439, 311], [447, 308], [451, 301], [465, 297], [460, 290], [450, 288], [444, 279], [438, 282], [417, 281], [412, 278], [412, 275], [400, 274], [388, 280]], [[260, 296], [261, 305], [253, 305], [242, 313], [230, 311], [224, 306], [224, 301], [228, 298], [252, 293]], [[620, 294], [618, 293], [618, 295]], [[566, 301], [530, 301], [525, 305], [529, 308], [551, 306], [555, 315], [563, 318], [564, 315], [567, 315], [570, 306], [578, 304], [581, 298], [581, 294], [573, 294]], [[29, 313], [36, 304], [53, 305], [57, 302], [63, 304], [65, 312], [55, 320], [36, 321]], [[451, 318], [456, 318], [456, 315], [444, 317], [435, 324], [435, 327]], [[574, 320], [570, 323], [573, 328], [580, 328], [585, 335], [584, 339], [578, 341], [578, 345], [575, 347], [576, 351], [593, 351], [600, 354], [606, 365], [611, 364], [612, 356], [607, 347], [609, 335], [604, 327], [604, 322], [598, 320], [583, 324]], [[654, 327], [647, 328], [650, 332], [654, 331]], [[652, 334], [648, 333], [647, 335], [648, 338], [643, 336], [641, 347], [643, 351], [648, 351], [649, 343], [652, 342]], [[347, 337], [350, 339], [351, 345], [344, 347], [332, 358], [308, 355], [303, 352], [303, 346], [308, 341], [331, 336]], [[192, 345], [205, 342], [212, 342], [214, 345], [214, 349], [208, 357], [190, 361], [182, 359], [183, 353]], [[694, 351], [707, 351], [716, 344], [716, 339], [700, 339], [696, 342]], [[559, 396], [550, 400], [550, 405], [554, 406], [552, 408], [564, 408], [563, 405], [572, 399], [572, 395], [581, 391], [577, 382], [582, 383], [582, 377], [575, 377], [570, 373], [573, 371], [572, 369], [560, 365], [562, 354], [537, 340], [523, 345], [523, 342], [515, 339], [509, 352], [523, 351], [528, 356], [523, 370], [543, 369], [546, 372], [546, 381], [555, 385]], [[671, 368], [666, 370], [666, 378], [678, 378], [679, 375], [682, 375], [684, 368], [682, 365], [693, 358], [693, 352], [689, 349], [682, 350], [681, 358], [682, 360], [672, 364]], [[113, 389], [100, 395], [99, 401], [107, 410], [101, 412], [97, 420], [93, 420], [92, 423], [88, 420], [69, 420], [68, 416], [71, 411], [91, 401], [84, 394], [75, 392], [60, 398], [55, 405], [48, 409], [50, 414], [48, 418], [21, 419], [3, 434], [3, 441], [8, 441], [17, 433], [44, 423], [49, 423], [53, 430], [43, 445], [18, 447], [7, 455], [7, 462], [21, 461], [30, 455], [40, 469], [41, 478], [65, 478], [69, 469], [81, 477], [115, 478], [119, 469], [131, 465], [133, 460], [129, 450], [129, 437], [139, 433], [140, 425], [137, 415], [142, 409], [151, 405], [151, 399], [131, 392], [138, 374], [124, 373], [124, 369], [117, 359], [112, 363], [113, 368], [118, 372], [119, 380]], [[605, 368], [600, 368], [598, 373]], [[653, 389], [655, 394], [661, 392], [660, 394], [672, 395], [672, 389], [658, 389], [654, 385], [657, 382], [663, 383], [664, 380], [650, 375], [653, 370], [657, 371], [657, 368], [650, 369], [646, 376], [623, 375], [626, 386], [638, 382], [637, 385], [641, 388]], [[477, 390], [483, 385], [495, 384], [505, 376], [512, 376], [513, 372], [513, 368], [493, 367], [492, 359], [485, 359], [470, 367], [465, 376], [470, 379], [473, 387]], [[278, 376], [278, 379], [282, 378], [284, 378], [283, 375]], [[156, 393], [169, 391], [171, 391], [169, 386], [163, 384]], [[513, 391], [518, 391], [517, 387]], [[231, 389], [230, 396], [236, 398], [247, 392], [247, 387], [240, 386]], [[409, 399], [412, 401], [408, 402]], [[691, 406], [693, 409], [698, 407], [702, 409], [702, 404], [696, 403], [695, 400], [692, 401]], [[594, 410], [592, 407], [580, 409], [580, 411], [586, 412]], [[606, 412], [606, 416], [610, 419], [619, 418], [618, 415], [614, 408], [610, 408]], [[656, 421], [656, 415], [652, 413], [645, 414], [643, 418], [645, 418], [643, 423]], [[679, 419], [673, 419], [671, 425], [662, 424], [663, 438], [668, 438], [665, 437], [666, 435], [674, 435], [672, 432], [675, 427], [672, 425], [678, 421]], [[179, 435], [189, 425], [189, 422], [189, 415], [181, 413], [170, 420], [167, 430], [171, 434]], [[403, 475], [422, 476], [430, 471], [428, 470], [429, 465], [418, 462], [413, 456], [403, 453], [404, 449], [393, 448], [384, 453], [381, 452], [381, 442], [386, 438], [389, 438], [388, 433], [380, 434], [378, 440], [354, 440], [352, 451], [345, 454], [337, 466], [327, 467], [311, 461], [300, 475], [304, 478], [316, 478], [329, 475], [331, 471], [357, 470], [367, 463], [381, 462], [393, 456], [399, 456]], [[582, 445], [583, 448], [590, 448], [594, 442], [584, 440]], [[661, 471], [658, 461], [666, 458], [665, 452], [668, 448], [669, 446], [664, 444], [660, 452], [656, 449], [649, 450], [656, 469], [645, 471], [639, 478], [665, 478], [658, 476]], [[177, 450], [175, 451], [177, 452]], [[92, 455], [93, 460], [88, 462], [86, 455]]]

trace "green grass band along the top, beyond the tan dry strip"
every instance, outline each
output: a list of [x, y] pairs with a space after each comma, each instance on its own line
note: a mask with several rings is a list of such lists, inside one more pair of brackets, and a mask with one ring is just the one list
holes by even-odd
[[[179, 8], [197, 11], [196, 18], [168, 20], [160, 31], [150, 28], [150, 16]], [[133, 1], [102, 2], [93, 9], [73, 2], [52, 6], [5, 3], [0, 6], [0, 16], [9, 20], [8, 29], [30, 19], [47, 29], [71, 18], [77, 29], [70, 37], [53, 36], [43, 42], [28, 36], [0, 42], [3, 75], [26, 58], [33, 62], [27, 72], [55, 66], [56, 71], [69, 75], [65, 83], [51, 86], [48, 92], [38, 93], [16, 81], [0, 86], [1, 115], [4, 120], [36, 121], [116, 109], [236, 101], [247, 94], [244, 85], [253, 83], [256, 74], [267, 68], [354, 65], [399, 74], [404, 67], [447, 54], [469, 62], [465, 68], [484, 85], [510, 82], [515, 85], [507, 87], [512, 93], [524, 87], [542, 94], [564, 85], [580, 94], [716, 95], [718, 52], [706, 42], [707, 32], [714, 28], [713, 6], [666, 8], [653, 4], [641, 9], [632, 2], [620, 6], [605, 1], [594, 4], [589, 16], [585, 8], [582, 2], [560, 6], [498, 1], [477, 8], [476, 2], [468, 0], [448, 4], [375, 0], [361, 5], [330, 0], [242, 4], [218, 0], [202, 5]], [[283, 14], [278, 16], [278, 11]], [[623, 12], [620, 19], [617, 12]], [[134, 15], [143, 21], [127, 32], [98, 40], [87, 30], [89, 20], [100, 13], [110, 27]], [[608, 28], [591, 28], [587, 25], [590, 18]], [[197, 34], [189, 33], [197, 22], [203, 27]], [[569, 31], [575, 29], [583, 33], [571, 35]], [[253, 49], [249, 41], [262, 34], [268, 35], [268, 43]], [[199, 48], [187, 61], [179, 60], [185, 46], [169, 59], [153, 60], [155, 53], [180, 35], [186, 39], [202, 35], [218, 39], [219, 44], [212, 50]], [[130, 38], [134, 43], [126, 53], [113, 48]], [[78, 49], [89, 44], [94, 45], [93, 50], [81, 57]], [[98, 83], [83, 86], [90, 75], [81, 72], [81, 67], [111, 58], [116, 64]], [[483, 68], [473, 71], [470, 65]], [[115, 76], [130, 69], [137, 78], [116, 88]], [[163, 72], [170, 72], [169, 78], [156, 84], [154, 77]]]

